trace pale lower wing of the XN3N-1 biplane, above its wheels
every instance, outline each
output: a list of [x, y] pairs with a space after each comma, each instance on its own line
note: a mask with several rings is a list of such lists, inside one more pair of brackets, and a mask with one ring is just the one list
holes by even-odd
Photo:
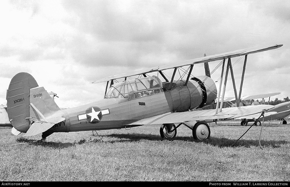
[[198, 110], [191, 112], [175, 112], [165, 113], [157, 116], [144, 118], [129, 125], [153, 125], [164, 123], [184, 123], [187, 121], [204, 121], [204, 120], [228, 120], [258, 114], [262, 111], [267, 111], [274, 108], [273, 105], [251, 105], [242, 107], [223, 108], [222, 112], [215, 114], [215, 109]]

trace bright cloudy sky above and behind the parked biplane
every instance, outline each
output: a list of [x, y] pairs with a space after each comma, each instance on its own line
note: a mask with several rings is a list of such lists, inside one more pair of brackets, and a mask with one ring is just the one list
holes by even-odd
[[[106, 83], [91, 82], [109, 75], [268, 44], [284, 46], [248, 55], [242, 96], [290, 97], [288, 0], [4, 0], [0, 17], [3, 104], [19, 72], [57, 93], [60, 107], [74, 107], [102, 99]], [[237, 87], [243, 61], [233, 66]], [[204, 75], [200, 65], [193, 75]], [[226, 96], [234, 96], [231, 79]]]

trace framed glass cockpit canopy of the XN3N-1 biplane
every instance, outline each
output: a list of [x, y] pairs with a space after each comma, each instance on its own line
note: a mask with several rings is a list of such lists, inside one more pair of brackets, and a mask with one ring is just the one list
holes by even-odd
[[106, 98], [134, 99], [163, 92], [162, 82], [156, 76], [125, 80], [113, 84]]

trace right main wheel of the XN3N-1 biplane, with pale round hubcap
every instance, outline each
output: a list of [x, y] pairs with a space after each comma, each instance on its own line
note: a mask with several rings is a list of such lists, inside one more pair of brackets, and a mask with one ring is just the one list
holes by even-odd
[[209, 139], [211, 136], [209, 125], [205, 121], [199, 121], [195, 123], [192, 130], [192, 135], [195, 140]]

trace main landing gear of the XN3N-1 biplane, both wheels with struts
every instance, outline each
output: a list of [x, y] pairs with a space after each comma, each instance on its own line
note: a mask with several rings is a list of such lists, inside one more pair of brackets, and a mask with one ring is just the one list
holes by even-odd
[[160, 136], [162, 139], [172, 139], [176, 136], [177, 128], [180, 125], [185, 125], [192, 130], [192, 135], [195, 140], [201, 141], [209, 139], [211, 136], [211, 130], [209, 125], [205, 121], [199, 121], [195, 123], [193, 127], [186, 123], [180, 123], [177, 127], [173, 123], [162, 124], [160, 127]]

